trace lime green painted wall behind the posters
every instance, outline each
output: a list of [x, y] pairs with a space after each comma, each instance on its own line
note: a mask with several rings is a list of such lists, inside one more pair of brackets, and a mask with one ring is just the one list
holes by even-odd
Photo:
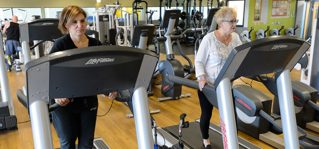
[[[268, 19], [266, 22], [266, 25], [264, 25], [263, 23], [260, 23], [260, 25], [255, 25], [255, 23], [253, 23], [254, 21], [254, 6], [255, 6], [255, 0], [250, 0], [249, 1], [249, 18], [248, 18], [248, 30], [250, 30], [250, 27], [254, 27], [254, 30], [251, 31], [251, 36], [252, 36], [252, 40], [256, 39], [256, 32], [258, 30], [267, 30], [267, 26], [270, 26], [269, 31], [271, 31], [271, 29], [274, 28], [278, 28], [280, 29], [282, 25], [285, 26], [284, 29], [282, 29], [281, 35], [285, 35], [285, 30], [287, 28], [290, 27], [294, 27], [294, 22], [295, 22], [295, 17], [291, 17], [291, 14], [293, 14], [293, 10], [295, 7], [295, 2], [296, 0], [291, 0], [291, 7], [290, 7], [290, 17], [289, 18], [271, 18], [271, 8], [272, 8], [272, 0], [269, 1], [268, 3]], [[282, 24], [271, 24], [271, 22], [281, 22]], [[269, 36], [269, 31], [267, 31], [267, 36]]]

